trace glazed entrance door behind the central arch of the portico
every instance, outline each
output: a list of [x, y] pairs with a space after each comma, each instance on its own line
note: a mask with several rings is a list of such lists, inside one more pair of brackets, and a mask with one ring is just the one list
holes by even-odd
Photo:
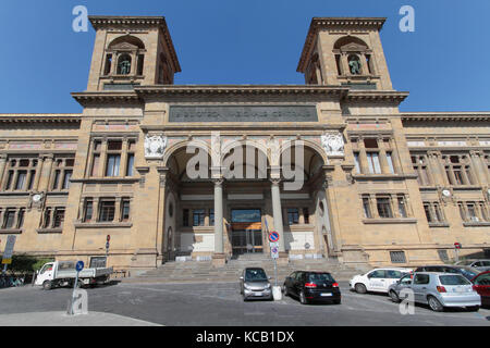
[[232, 210], [232, 247], [234, 256], [264, 252], [260, 209]]

